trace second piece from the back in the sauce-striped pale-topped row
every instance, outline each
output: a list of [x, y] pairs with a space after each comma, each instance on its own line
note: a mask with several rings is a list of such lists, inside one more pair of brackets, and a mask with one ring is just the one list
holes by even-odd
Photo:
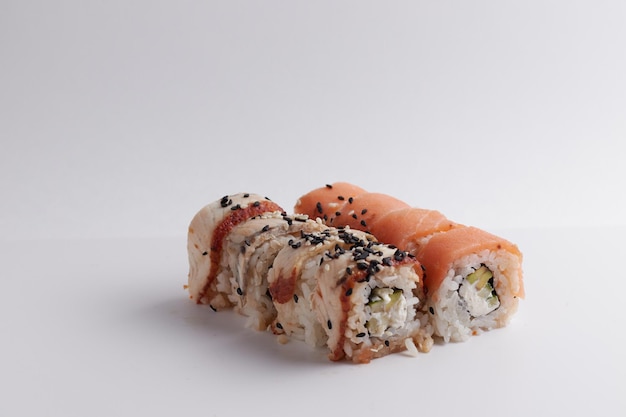
[[272, 212], [235, 226], [226, 239], [229, 302], [248, 317], [247, 327], [266, 330], [276, 316], [268, 292], [267, 275], [274, 258], [301, 233], [326, 229], [307, 216]]

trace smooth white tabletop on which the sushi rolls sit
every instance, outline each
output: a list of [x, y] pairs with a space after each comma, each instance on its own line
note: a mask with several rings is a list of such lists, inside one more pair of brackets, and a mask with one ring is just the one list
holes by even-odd
[[368, 365], [192, 304], [184, 239], [2, 244], [0, 414], [624, 415], [619, 239], [507, 235], [525, 251], [528, 294], [509, 327]]

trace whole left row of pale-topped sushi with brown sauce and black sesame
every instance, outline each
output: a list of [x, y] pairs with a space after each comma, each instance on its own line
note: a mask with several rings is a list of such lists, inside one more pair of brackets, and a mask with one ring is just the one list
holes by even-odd
[[190, 299], [234, 308], [248, 327], [356, 363], [432, 346], [421, 264], [369, 233], [240, 193], [194, 216], [187, 248]]

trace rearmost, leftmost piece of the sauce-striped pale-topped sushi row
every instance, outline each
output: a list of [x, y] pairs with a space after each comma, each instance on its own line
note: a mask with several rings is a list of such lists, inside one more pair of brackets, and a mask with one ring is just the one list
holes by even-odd
[[238, 224], [264, 213], [283, 211], [268, 198], [250, 193], [226, 195], [198, 211], [187, 234], [189, 298], [215, 310], [232, 307], [225, 240]]

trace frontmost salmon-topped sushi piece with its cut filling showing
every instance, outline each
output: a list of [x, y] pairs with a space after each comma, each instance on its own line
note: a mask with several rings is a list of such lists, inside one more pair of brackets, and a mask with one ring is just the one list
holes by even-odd
[[475, 227], [434, 235], [419, 251], [435, 334], [460, 342], [506, 326], [524, 297], [522, 253]]

